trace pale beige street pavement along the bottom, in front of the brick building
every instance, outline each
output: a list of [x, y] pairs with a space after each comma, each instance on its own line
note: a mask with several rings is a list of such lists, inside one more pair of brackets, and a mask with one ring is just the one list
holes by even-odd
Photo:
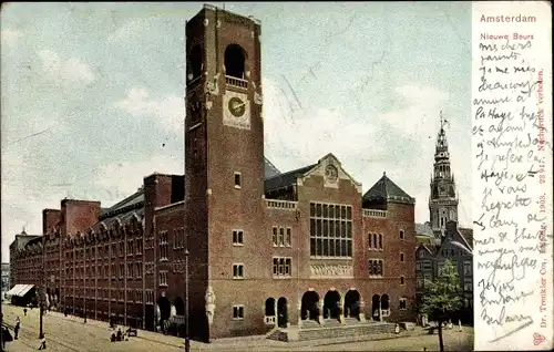
[[[16, 317], [21, 319], [20, 340], [7, 344], [6, 351], [31, 351], [40, 344], [39, 310], [28, 310], [23, 317], [21, 307], [2, 304], [4, 322], [16, 323]], [[11, 329], [10, 329], [11, 330]], [[107, 322], [89, 319], [84, 323], [82, 318], [64, 317], [58, 312], [48, 312], [43, 318], [43, 330], [47, 335], [49, 351], [183, 351], [184, 340], [163, 335], [151, 331], [138, 330], [137, 338], [129, 341], [110, 342], [111, 329]], [[122, 328], [123, 330], [123, 328]], [[12, 332], [12, 330], [11, 330]], [[13, 332], [12, 332], [13, 334]], [[390, 337], [389, 337], [390, 338]], [[394, 337], [379, 341], [352, 341], [352, 339], [332, 339], [302, 342], [279, 342], [268, 340], [265, 335], [218, 339], [212, 343], [191, 341], [191, 350], [213, 351], [428, 351], [438, 350], [437, 334], [421, 334], [420, 331], [411, 335]], [[444, 331], [447, 351], [471, 351], [473, 345], [473, 329], [465, 328]]]

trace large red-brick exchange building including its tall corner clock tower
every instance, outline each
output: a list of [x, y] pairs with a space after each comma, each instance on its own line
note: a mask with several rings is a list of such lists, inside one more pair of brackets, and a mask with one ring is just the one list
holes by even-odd
[[10, 253], [45, 275], [17, 282], [44, 283], [59, 309], [182, 333], [187, 250], [201, 340], [414, 320], [414, 199], [384, 174], [363, 194], [332, 154], [278, 172], [264, 157], [259, 22], [204, 6], [186, 37], [185, 176], [147, 176], [107, 209], [45, 209], [44, 236]]

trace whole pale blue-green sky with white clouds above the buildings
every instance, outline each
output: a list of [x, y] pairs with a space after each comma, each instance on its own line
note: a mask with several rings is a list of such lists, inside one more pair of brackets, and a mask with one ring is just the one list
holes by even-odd
[[[471, 2], [211, 2], [261, 21], [265, 154], [334, 153], [368, 190], [428, 199], [440, 112], [471, 224]], [[109, 207], [184, 173], [185, 22], [203, 3], [8, 3], [1, 11], [2, 261], [64, 197]]]

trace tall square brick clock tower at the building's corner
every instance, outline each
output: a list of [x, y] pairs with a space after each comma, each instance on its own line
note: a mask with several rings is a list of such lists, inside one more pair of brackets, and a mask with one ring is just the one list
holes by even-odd
[[[267, 261], [259, 244], [264, 224], [264, 123], [261, 118], [260, 24], [204, 4], [186, 24], [185, 208], [194, 290], [205, 292], [208, 339], [228, 329], [235, 263], [245, 279], [253, 262]], [[242, 232], [244, 246], [235, 246]], [[269, 241], [268, 239], [267, 241]], [[259, 267], [259, 265], [258, 265]], [[194, 278], [197, 272], [196, 278]], [[191, 286], [193, 289], [193, 286]], [[229, 300], [229, 301], [227, 301]]]

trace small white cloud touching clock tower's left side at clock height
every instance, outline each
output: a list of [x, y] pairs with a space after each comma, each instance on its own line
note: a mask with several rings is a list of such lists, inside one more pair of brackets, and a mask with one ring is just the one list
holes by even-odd
[[144, 89], [132, 89], [126, 97], [115, 106], [133, 116], [154, 116], [162, 122], [164, 130], [183, 132], [185, 124], [185, 103], [179, 96], [168, 95], [160, 101], [152, 100]]

